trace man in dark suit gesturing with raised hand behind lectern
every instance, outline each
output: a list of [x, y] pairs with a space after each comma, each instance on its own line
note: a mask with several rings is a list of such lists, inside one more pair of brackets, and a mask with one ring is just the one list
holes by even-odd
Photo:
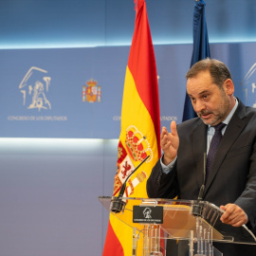
[[[256, 110], [234, 98], [229, 68], [206, 59], [192, 66], [187, 75], [187, 93], [198, 118], [163, 127], [163, 155], [147, 181], [152, 198], [196, 200], [205, 182], [203, 200], [225, 210], [227, 226], [256, 225]], [[209, 153], [217, 124], [223, 122], [222, 138], [211, 156], [204, 180], [204, 153]], [[214, 244], [225, 256], [252, 256], [256, 246]], [[254, 252], [253, 252], [254, 251]], [[182, 255], [182, 254], [179, 254]]]

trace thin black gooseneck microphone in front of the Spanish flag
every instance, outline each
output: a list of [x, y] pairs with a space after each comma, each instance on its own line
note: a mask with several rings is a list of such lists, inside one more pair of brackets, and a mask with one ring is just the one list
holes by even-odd
[[122, 201], [122, 197], [123, 197], [123, 193], [126, 188], [126, 182], [129, 179], [129, 177], [137, 171], [137, 169], [140, 167], [140, 165], [143, 164], [149, 158], [149, 156], [150, 155], [147, 155], [147, 157], [143, 159], [143, 161], [137, 166], [137, 168], [135, 168], [135, 170], [127, 176], [127, 178], [124, 180], [124, 182], [120, 188], [119, 196], [112, 198], [111, 205], [110, 205], [110, 210], [112, 212], [119, 213], [123, 209], [123, 207], [125, 207], [126, 203], [124, 201]]

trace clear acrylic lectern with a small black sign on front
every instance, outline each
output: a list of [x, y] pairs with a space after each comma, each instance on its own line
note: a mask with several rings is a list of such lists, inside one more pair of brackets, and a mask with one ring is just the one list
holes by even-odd
[[[224, 211], [207, 201], [122, 197], [118, 198], [122, 209], [116, 210], [117, 197], [99, 199], [106, 210], [133, 229], [132, 256], [165, 256], [168, 240], [182, 242], [188, 256], [223, 255], [212, 242], [256, 245], [247, 226], [223, 224], [220, 216]], [[137, 255], [139, 241], [143, 255]]]

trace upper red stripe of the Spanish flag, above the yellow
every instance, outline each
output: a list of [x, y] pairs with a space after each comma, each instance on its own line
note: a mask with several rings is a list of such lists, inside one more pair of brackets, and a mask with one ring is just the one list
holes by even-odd
[[[136, 27], [128, 66], [135, 80], [138, 95], [148, 109], [155, 124], [157, 141], [160, 141], [160, 110], [155, 52], [144, 0], [137, 1]], [[159, 155], [160, 152], [158, 143]]]

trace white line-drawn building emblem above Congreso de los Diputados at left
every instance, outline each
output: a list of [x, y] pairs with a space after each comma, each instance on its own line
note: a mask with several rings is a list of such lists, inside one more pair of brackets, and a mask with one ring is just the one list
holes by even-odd
[[45, 69], [31, 66], [19, 84], [23, 105], [27, 109], [51, 109], [51, 104], [46, 98], [51, 78], [46, 76], [46, 73]]

